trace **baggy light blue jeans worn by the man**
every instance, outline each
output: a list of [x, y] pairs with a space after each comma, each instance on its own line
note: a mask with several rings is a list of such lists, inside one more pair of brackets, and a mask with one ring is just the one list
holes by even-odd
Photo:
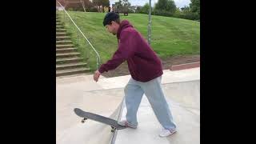
[[162, 127], [167, 130], [176, 128], [165, 95], [162, 92], [161, 80], [162, 76], [154, 78], [149, 82], [138, 82], [130, 78], [125, 87], [125, 100], [127, 109], [126, 120], [132, 126], [138, 126], [138, 106], [142, 102], [142, 96], [145, 93]]

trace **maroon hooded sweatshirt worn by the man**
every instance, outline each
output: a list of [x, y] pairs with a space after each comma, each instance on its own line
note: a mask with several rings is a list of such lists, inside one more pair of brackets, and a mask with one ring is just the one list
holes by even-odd
[[126, 20], [120, 24], [117, 33], [118, 50], [112, 59], [99, 68], [99, 72], [114, 70], [127, 61], [130, 75], [139, 82], [148, 82], [162, 75], [162, 62], [150, 45]]

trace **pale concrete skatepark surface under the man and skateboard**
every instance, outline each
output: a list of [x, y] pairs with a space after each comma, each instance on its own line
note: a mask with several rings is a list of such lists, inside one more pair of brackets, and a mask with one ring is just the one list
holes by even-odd
[[144, 95], [138, 109], [138, 128], [115, 130], [105, 124], [74, 114], [78, 107], [91, 113], [122, 120], [126, 115], [123, 89], [130, 75], [115, 78], [93, 75], [56, 78], [56, 143], [57, 144], [199, 144], [200, 143], [200, 68], [164, 70], [162, 88], [177, 124], [177, 132], [158, 136], [162, 129]]

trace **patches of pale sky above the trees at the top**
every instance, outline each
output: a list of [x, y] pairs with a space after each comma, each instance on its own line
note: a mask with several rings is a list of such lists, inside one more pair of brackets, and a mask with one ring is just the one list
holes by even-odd
[[[114, 4], [114, 2], [118, 2], [118, 0], [110, 0], [110, 6]], [[129, 0], [131, 6], [144, 6], [146, 2], [150, 2], [150, 0]], [[154, 6], [154, 3], [158, 2], [158, 0], [151, 0], [151, 6]], [[184, 6], [189, 6], [190, 0], [174, 0], [177, 7], [182, 8]]]

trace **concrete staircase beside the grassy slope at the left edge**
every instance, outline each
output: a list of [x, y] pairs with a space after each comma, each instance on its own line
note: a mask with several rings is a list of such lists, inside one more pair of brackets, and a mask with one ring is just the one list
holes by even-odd
[[70, 36], [56, 15], [56, 77], [84, 74], [89, 72], [87, 63], [82, 62], [78, 49], [74, 47]]

